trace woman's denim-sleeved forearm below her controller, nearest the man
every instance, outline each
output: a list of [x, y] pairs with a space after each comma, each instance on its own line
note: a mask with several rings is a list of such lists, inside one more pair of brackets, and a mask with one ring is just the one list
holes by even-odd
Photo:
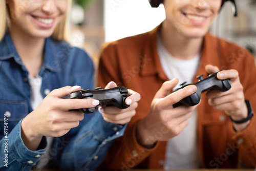
[[77, 134], [55, 138], [53, 148], [61, 149], [58, 156], [53, 156], [53, 165], [61, 170], [94, 170], [99, 166], [113, 140], [123, 135], [126, 126], [104, 121], [99, 112], [93, 115], [88, 123], [75, 128]]

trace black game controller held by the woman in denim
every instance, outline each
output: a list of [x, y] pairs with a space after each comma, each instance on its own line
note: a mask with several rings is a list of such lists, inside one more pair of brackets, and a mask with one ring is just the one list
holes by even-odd
[[93, 98], [99, 100], [99, 104], [95, 108], [79, 109], [85, 114], [90, 114], [96, 111], [99, 106], [116, 106], [119, 109], [126, 109], [130, 105], [125, 103], [125, 99], [128, 97], [128, 90], [125, 87], [115, 87], [112, 89], [103, 90], [101, 87], [95, 90], [78, 90], [72, 92], [66, 97], [66, 99], [89, 99]]

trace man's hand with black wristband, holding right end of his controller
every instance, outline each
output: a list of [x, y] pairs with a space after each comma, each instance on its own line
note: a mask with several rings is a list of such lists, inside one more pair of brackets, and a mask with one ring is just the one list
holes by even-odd
[[[207, 73], [211, 74], [218, 72], [219, 68], [207, 65], [205, 70]], [[206, 94], [209, 105], [214, 106], [214, 109], [217, 111], [225, 111], [225, 113], [232, 117], [233, 120], [242, 120], [246, 118], [248, 111], [245, 104], [243, 86], [240, 82], [238, 72], [236, 70], [224, 70], [220, 71], [217, 77], [219, 79], [229, 78], [231, 81], [231, 89], [226, 92], [220, 92], [218, 90], [209, 91]], [[233, 124], [237, 131], [242, 131], [248, 125], [249, 121], [246, 123], [247, 124]]]

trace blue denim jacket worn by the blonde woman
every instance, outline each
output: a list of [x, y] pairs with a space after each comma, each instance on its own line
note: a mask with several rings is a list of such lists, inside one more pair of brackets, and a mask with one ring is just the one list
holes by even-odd
[[[46, 39], [44, 52], [38, 73], [42, 77], [42, 97], [65, 86], [93, 89], [94, 66], [86, 52], [51, 38]], [[0, 42], [0, 170], [30, 170], [47, 148], [46, 137], [36, 151], [28, 149], [21, 137], [21, 121], [32, 112], [28, 75], [10, 34], [6, 33]], [[111, 142], [123, 135], [125, 127], [104, 121], [99, 112], [85, 114], [78, 127], [54, 138], [50, 163], [63, 170], [93, 170]]]

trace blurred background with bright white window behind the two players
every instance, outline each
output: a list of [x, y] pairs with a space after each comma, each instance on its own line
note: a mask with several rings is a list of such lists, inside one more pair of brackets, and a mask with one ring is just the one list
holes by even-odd
[[[256, 57], [256, 0], [236, 2], [239, 16], [225, 3], [209, 32]], [[163, 5], [151, 8], [148, 0], [73, 0], [71, 44], [86, 50], [97, 67], [104, 42], [150, 31], [164, 19]]]

